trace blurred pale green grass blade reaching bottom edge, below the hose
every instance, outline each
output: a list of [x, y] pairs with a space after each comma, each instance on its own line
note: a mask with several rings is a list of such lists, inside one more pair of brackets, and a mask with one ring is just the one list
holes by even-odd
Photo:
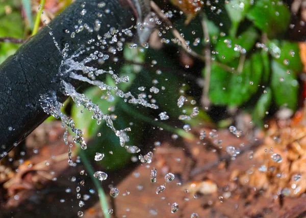
[[79, 150], [78, 154], [81, 157], [81, 160], [84, 164], [84, 167], [86, 168], [87, 172], [90, 175], [90, 178], [92, 179], [94, 185], [96, 186], [96, 188], [98, 190], [99, 201], [100, 201], [101, 208], [103, 210], [104, 217], [105, 218], [111, 218], [110, 214], [108, 213], [107, 198], [106, 198], [105, 192], [103, 190], [103, 187], [102, 187], [101, 183], [99, 182], [99, 180], [97, 180], [93, 176], [94, 170], [91, 167], [90, 161], [88, 160], [85, 152], [82, 149], [78, 149], [78, 150]]

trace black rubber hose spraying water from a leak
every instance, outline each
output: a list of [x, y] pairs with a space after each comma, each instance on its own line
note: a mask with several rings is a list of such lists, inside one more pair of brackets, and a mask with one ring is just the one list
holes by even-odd
[[[0, 65], [0, 158], [49, 116], [40, 106], [41, 94], [54, 91], [60, 102], [67, 97], [61, 91], [63, 78], [59, 75], [63, 56], [53, 37], [61, 49], [65, 43], [69, 43], [71, 51], [78, 50], [81, 45], [89, 47], [88, 40], [96, 39], [98, 34], [103, 37], [111, 28], [122, 30], [136, 24], [137, 9], [133, 1], [77, 0]], [[103, 4], [101, 2], [105, 6], [98, 7], [99, 3]], [[101, 22], [98, 31], [84, 28], [71, 38], [75, 25], [88, 24], [88, 28], [94, 29], [97, 20]], [[68, 77], [65, 80], [76, 88], [81, 85]]]

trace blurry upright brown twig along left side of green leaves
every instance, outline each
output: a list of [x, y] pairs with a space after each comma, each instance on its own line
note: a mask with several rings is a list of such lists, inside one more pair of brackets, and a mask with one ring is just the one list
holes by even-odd
[[208, 107], [210, 105], [210, 99], [208, 97], [209, 93], [209, 87], [210, 87], [210, 78], [211, 78], [211, 71], [212, 71], [212, 59], [211, 59], [211, 49], [210, 49], [210, 37], [209, 37], [209, 30], [208, 25], [206, 22], [206, 15], [205, 13], [202, 13], [202, 29], [203, 29], [203, 35], [205, 40], [205, 78], [204, 78], [204, 87], [203, 87], [203, 93], [202, 93], [202, 105], [205, 107]]

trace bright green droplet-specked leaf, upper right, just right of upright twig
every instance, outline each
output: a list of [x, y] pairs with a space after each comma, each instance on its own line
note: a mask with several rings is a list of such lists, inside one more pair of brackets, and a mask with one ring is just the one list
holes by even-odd
[[248, 28], [237, 38], [230, 36], [220, 37], [216, 45], [219, 61], [225, 64], [233, 63], [233, 59], [239, 58], [241, 55], [240, 49], [237, 49], [236, 45], [241, 46], [242, 49], [245, 49], [246, 52], [248, 52], [253, 47], [257, 38], [258, 33], [252, 27]]

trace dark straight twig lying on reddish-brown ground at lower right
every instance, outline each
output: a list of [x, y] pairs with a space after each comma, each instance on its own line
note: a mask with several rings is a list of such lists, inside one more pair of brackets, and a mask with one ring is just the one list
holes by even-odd
[[[258, 146], [260, 146], [262, 143], [264, 142], [263, 139], [260, 139], [260, 140], [254, 140], [252, 142], [250, 142], [247, 146], [241, 148], [240, 150], [240, 155], [246, 151], [249, 151], [249, 150], [252, 150], [252, 149], [255, 149], [257, 148]], [[215, 161], [211, 161], [209, 163], [207, 163], [205, 166], [201, 166], [201, 167], [198, 167], [198, 168], [195, 168], [193, 169], [191, 172], [190, 172], [190, 177], [194, 177], [200, 173], [203, 173], [203, 172], [206, 172], [206, 171], [209, 171], [211, 170], [212, 168], [214, 167], [217, 167], [219, 165], [220, 162], [222, 161], [230, 161], [232, 158], [231, 155], [229, 154], [224, 154], [222, 155], [220, 158], [218, 158], [217, 160]]]

